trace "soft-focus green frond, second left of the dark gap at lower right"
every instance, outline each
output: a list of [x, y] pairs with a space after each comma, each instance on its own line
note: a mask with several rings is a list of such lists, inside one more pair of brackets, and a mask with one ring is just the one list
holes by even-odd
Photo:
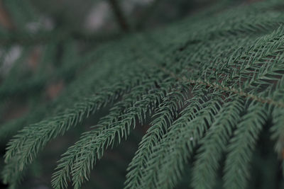
[[244, 102], [238, 98], [231, 98], [232, 100], [226, 103], [217, 115], [205, 137], [200, 140], [201, 147], [197, 151], [192, 173], [193, 188], [209, 189], [214, 186], [222, 153], [244, 111]]

